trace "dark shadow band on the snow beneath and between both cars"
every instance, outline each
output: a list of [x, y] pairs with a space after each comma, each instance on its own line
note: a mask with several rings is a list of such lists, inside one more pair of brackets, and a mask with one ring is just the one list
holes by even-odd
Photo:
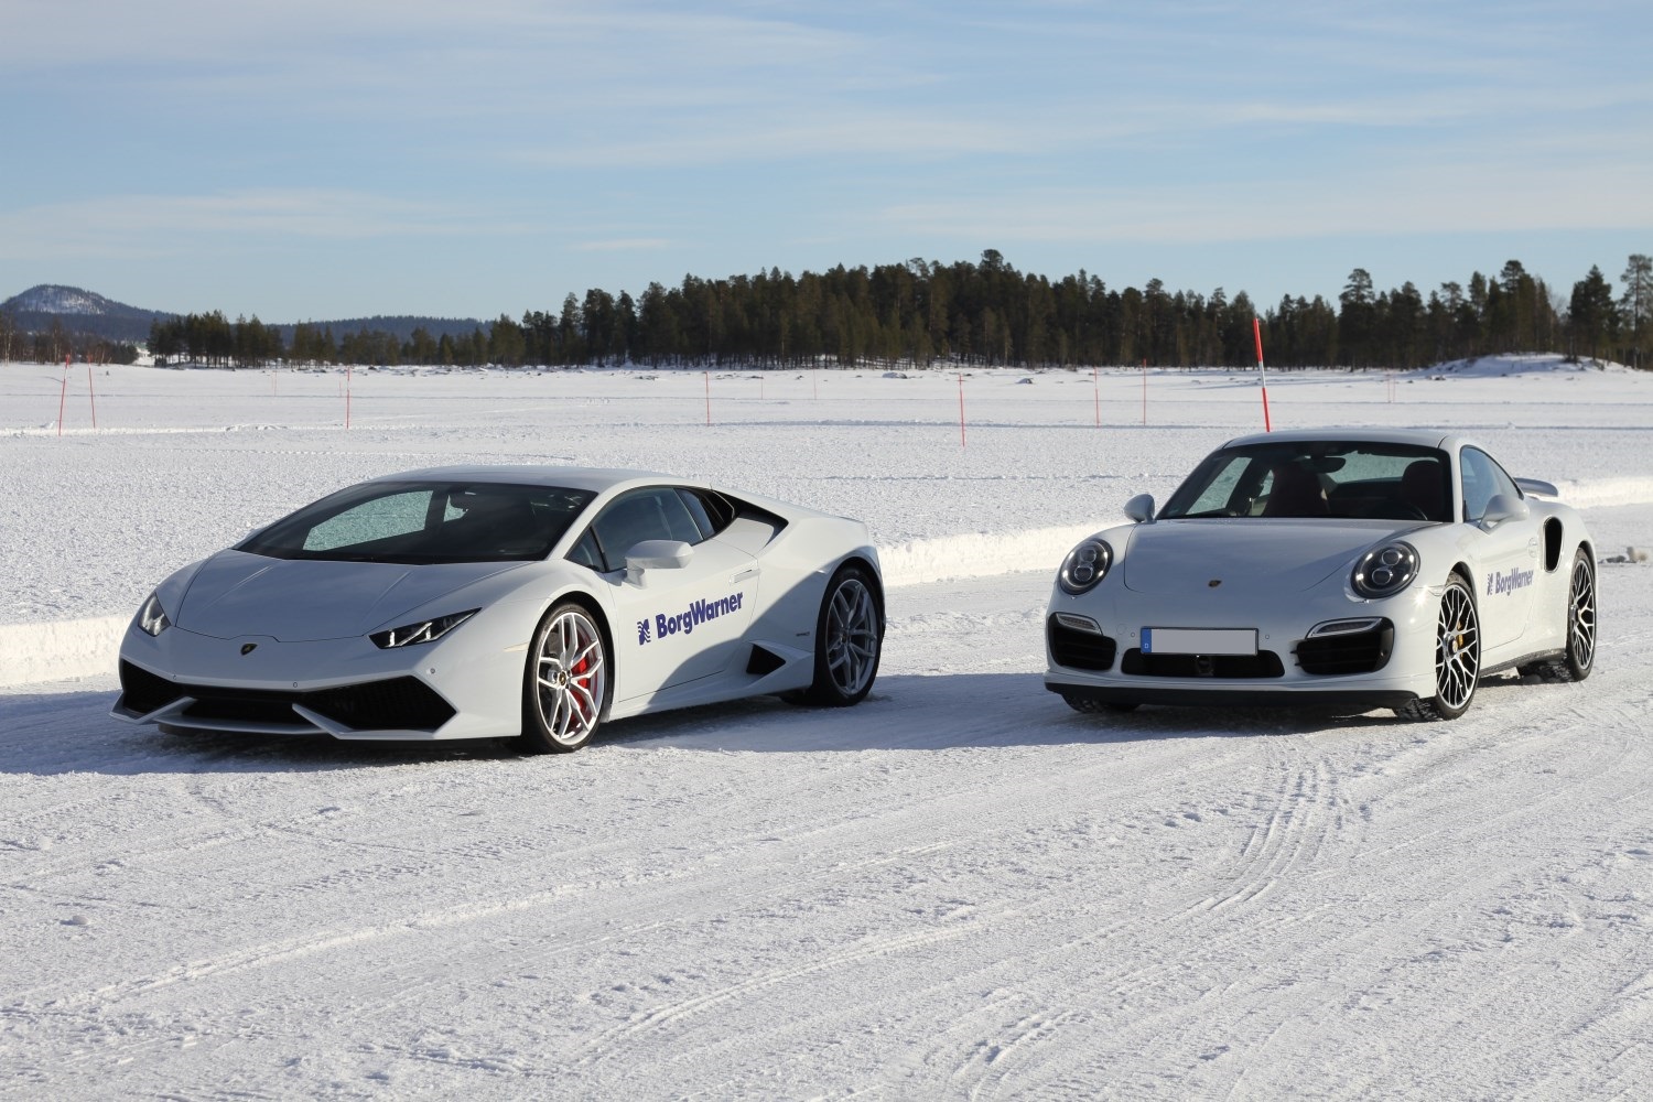
[[[1489, 679], [1474, 709], [1496, 707], [1521, 682]], [[521, 758], [506, 740], [337, 742], [233, 734], [165, 734], [112, 719], [114, 692], [0, 696], [0, 775], [327, 772], [436, 762]], [[1474, 712], [1471, 712], [1473, 715]], [[856, 707], [797, 707], [779, 697], [641, 715], [607, 724], [582, 755], [674, 750], [709, 753], [830, 753], [947, 750], [1306, 735], [1365, 730], [1410, 737], [1438, 729], [1389, 710], [1349, 715], [1303, 707], [1142, 707], [1079, 714], [1038, 674], [894, 674]], [[554, 760], [554, 758], [552, 758]]]

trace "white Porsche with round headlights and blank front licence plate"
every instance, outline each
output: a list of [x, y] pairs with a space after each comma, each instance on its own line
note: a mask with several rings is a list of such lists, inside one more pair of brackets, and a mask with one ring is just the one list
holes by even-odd
[[1582, 681], [1595, 553], [1555, 487], [1422, 430], [1266, 433], [1068, 553], [1045, 686], [1081, 712], [1336, 704], [1455, 719], [1499, 671]]

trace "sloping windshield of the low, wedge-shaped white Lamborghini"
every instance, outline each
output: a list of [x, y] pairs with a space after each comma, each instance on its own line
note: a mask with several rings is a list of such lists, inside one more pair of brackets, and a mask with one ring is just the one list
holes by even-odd
[[499, 482], [364, 482], [322, 497], [236, 550], [334, 562], [526, 562], [544, 558], [590, 491]]

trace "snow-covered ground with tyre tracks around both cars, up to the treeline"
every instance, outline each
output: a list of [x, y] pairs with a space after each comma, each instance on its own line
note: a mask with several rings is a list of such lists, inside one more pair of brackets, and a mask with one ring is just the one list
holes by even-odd
[[[909, 375], [0, 365], [0, 1097], [1646, 1095], [1653, 375], [1271, 375], [1274, 428], [1465, 428], [1584, 509], [1595, 674], [1453, 724], [1071, 712], [1061, 553], [1255, 375]], [[460, 461], [865, 519], [871, 699], [554, 758], [107, 717], [172, 568]]]

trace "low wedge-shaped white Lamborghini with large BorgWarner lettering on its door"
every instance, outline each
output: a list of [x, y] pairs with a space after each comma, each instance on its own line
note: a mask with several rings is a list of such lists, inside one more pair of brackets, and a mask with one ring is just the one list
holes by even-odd
[[636, 471], [441, 468], [350, 486], [188, 565], [121, 644], [114, 714], [167, 730], [517, 739], [878, 674], [866, 527]]

